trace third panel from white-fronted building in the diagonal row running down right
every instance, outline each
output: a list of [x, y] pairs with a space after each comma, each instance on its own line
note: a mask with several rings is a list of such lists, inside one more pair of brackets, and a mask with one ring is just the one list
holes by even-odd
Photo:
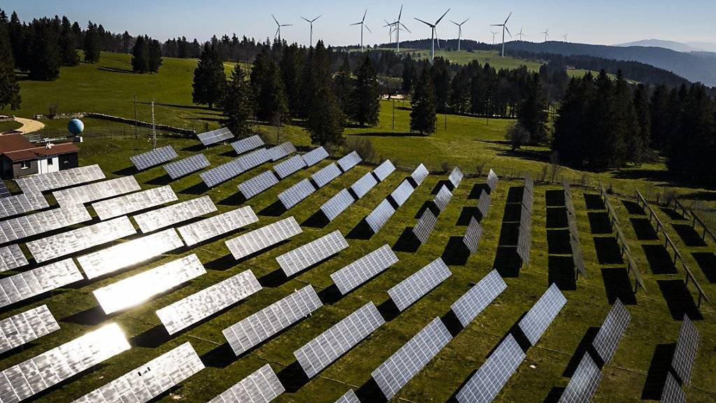
[[171, 186], [161, 186], [145, 191], [127, 194], [104, 201], [92, 203], [92, 208], [97, 212], [101, 220], [120, 217], [133, 212], [138, 212], [161, 204], [177, 201], [178, 197]]

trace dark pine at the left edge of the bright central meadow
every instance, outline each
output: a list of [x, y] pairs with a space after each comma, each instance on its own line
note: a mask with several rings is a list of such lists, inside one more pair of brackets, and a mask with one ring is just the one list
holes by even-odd
[[350, 118], [361, 127], [377, 125], [380, 113], [378, 96], [378, 79], [375, 68], [370, 57], [366, 56], [356, 70], [356, 79], [353, 82], [350, 97]]

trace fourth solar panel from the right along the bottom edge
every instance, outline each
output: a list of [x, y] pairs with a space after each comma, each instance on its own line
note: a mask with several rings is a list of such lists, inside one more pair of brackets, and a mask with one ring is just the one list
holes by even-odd
[[413, 338], [372, 372], [378, 387], [390, 400], [430, 360], [447, 345], [453, 336], [440, 318], [433, 319]]

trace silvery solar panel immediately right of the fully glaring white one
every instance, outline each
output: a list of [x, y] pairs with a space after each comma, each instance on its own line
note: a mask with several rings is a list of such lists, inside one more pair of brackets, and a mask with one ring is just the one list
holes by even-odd
[[259, 290], [261, 284], [251, 270], [246, 270], [157, 310], [157, 316], [167, 332], [174, 334]]

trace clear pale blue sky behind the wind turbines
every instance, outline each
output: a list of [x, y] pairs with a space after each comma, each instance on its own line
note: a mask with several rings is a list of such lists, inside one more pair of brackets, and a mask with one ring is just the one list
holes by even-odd
[[216, 34], [236, 32], [239, 37], [264, 39], [274, 37], [275, 14], [281, 24], [294, 24], [281, 29], [289, 42], [308, 44], [309, 24], [301, 19], [321, 18], [314, 23], [315, 39], [334, 45], [357, 44], [360, 28], [348, 24], [358, 22], [368, 9], [366, 23], [372, 34], [364, 32], [366, 44], [388, 40], [384, 19], [395, 19], [404, 4], [402, 21], [412, 34], [401, 33], [401, 39], [430, 37], [430, 28], [413, 17], [435, 21], [450, 7], [438, 25], [441, 38], [458, 36], [458, 29], [448, 21], [462, 22], [463, 38], [491, 42], [489, 24], [503, 22], [510, 11], [508, 23], [512, 34], [523, 27], [525, 40], [541, 41], [540, 32], [549, 28], [551, 39], [561, 40], [569, 34], [570, 42], [616, 44], [639, 39], [669, 39], [678, 42], [716, 42], [716, 1], [697, 0], [546, 0], [546, 1], [328, 1], [328, 0], [4, 0], [0, 7], [8, 13], [18, 12], [22, 20], [54, 14], [67, 15], [83, 27], [87, 20], [103, 24], [112, 32], [148, 34], [157, 39], [184, 35], [200, 42]]

